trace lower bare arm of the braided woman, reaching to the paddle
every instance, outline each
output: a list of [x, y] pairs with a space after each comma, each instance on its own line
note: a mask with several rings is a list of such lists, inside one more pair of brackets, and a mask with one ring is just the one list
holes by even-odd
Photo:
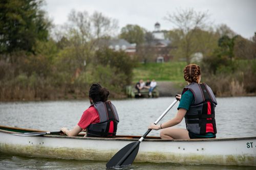
[[172, 119], [168, 120], [167, 122], [160, 124], [160, 125], [152, 124], [151, 126], [148, 127], [148, 129], [159, 130], [161, 128], [164, 129], [164, 128], [173, 127], [175, 125], [178, 125], [179, 123], [181, 123], [186, 112], [187, 112], [186, 109], [180, 108], [174, 118], [172, 118]]

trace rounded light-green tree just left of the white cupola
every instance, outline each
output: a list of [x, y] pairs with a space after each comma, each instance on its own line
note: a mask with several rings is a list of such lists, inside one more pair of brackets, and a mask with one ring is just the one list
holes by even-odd
[[120, 38], [130, 43], [142, 44], [145, 40], [145, 29], [138, 25], [126, 25], [121, 29]]

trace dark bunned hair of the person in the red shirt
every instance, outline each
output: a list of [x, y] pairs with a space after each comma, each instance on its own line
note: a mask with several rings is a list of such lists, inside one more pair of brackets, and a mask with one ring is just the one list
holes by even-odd
[[110, 91], [105, 87], [102, 87], [100, 84], [94, 83], [91, 85], [89, 98], [91, 98], [94, 103], [108, 101], [109, 95]]

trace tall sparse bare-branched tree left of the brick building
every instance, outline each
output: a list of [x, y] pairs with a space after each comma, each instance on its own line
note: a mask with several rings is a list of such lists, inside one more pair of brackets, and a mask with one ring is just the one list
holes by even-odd
[[65, 37], [69, 40], [67, 62], [74, 68], [83, 69], [92, 60], [99, 47], [99, 40], [112, 36], [118, 28], [117, 20], [105, 17], [102, 13], [72, 10], [66, 24]]

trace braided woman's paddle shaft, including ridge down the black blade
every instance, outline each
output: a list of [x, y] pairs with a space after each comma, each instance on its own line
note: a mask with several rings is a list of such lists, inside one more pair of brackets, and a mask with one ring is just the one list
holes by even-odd
[[[161, 116], [156, 120], [156, 122], [154, 123], [155, 125], [163, 118], [163, 116], [165, 116], [165, 114], [178, 102], [178, 100], [175, 100], [162, 114]], [[129, 157], [129, 155], [138, 147], [138, 145], [140, 144], [140, 142], [142, 142], [142, 140], [148, 135], [148, 133], [151, 132], [152, 129], [148, 129], [146, 131], [146, 133], [136, 142], [136, 144], [133, 145], [133, 147], [130, 149], [129, 152], [126, 152], [126, 154], [118, 161], [118, 163], [116, 165], [120, 166], [127, 157]]]

